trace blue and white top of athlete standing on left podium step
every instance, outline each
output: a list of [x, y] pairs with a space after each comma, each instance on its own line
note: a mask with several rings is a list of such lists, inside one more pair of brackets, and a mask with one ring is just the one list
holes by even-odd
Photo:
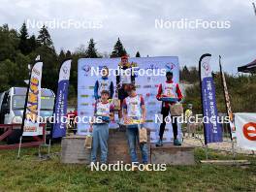
[[113, 83], [108, 77], [102, 77], [100, 80], [96, 80], [94, 85], [94, 98], [95, 100], [101, 98], [101, 92], [107, 90], [110, 92], [110, 98], [113, 95]]

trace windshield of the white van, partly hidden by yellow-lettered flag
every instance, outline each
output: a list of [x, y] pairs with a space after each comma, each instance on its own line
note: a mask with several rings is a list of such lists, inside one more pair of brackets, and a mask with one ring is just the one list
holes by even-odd
[[[24, 95], [13, 96], [13, 110], [23, 110], [25, 105]], [[54, 106], [54, 97], [41, 97], [41, 110], [52, 111]]]

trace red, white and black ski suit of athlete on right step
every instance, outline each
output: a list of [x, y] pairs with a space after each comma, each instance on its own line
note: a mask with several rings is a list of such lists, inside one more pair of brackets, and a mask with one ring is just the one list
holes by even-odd
[[[156, 98], [159, 100], [162, 97], [162, 95], [167, 96], [167, 97], [177, 98], [178, 101], [180, 101], [183, 97], [178, 84], [175, 83], [173, 80], [166, 80], [164, 83], [161, 83], [159, 85]], [[163, 114], [163, 119], [165, 119], [165, 117], [169, 115], [170, 105], [174, 105], [174, 104], [176, 104], [176, 103], [175, 102], [162, 102], [161, 113]], [[173, 125], [174, 139], [176, 141], [177, 122], [176, 122], [176, 118], [173, 118], [173, 116], [172, 116], [172, 125]], [[165, 126], [166, 126], [166, 122], [165, 122], [165, 120], [163, 120], [163, 122], [160, 125], [160, 131], [159, 131], [160, 141], [163, 140]]]

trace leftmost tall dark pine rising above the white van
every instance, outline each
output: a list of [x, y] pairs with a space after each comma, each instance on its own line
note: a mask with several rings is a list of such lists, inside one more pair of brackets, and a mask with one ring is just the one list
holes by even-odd
[[28, 40], [28, 33], [27, 27], [25, 22], [22, 24], [19, 30], [19, 44], [18, 48], [22, 52], [22, 54], [28, 54], [31, 50], [29, 48], [29, 40]]

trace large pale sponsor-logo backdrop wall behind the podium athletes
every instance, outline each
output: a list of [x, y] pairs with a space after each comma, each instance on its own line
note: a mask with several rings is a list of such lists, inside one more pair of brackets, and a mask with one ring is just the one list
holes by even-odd
[[[112, 70], [116, 70], [120, 63], [120, 58], [80, 58], [78, 66], [78, 115], [85, 121], [89, 120], [89, 117], [94, 112], [94, 84], [96, 80], [99, 80], [101, 76], [92, 76], [95, 68], [102, 69], [103, 66], [108, 66], [110, 70], [109, 79], [112, 80], [114, 86], [116, 85], [116, 77], [112, 75]], [[179, 65], [178, 57], [176, 56], [159, 56], [159, 57], [132, 57], [128, 58], [128, 62], [136, 66], [136, 71], [144, 70], [159, 70], [165, 69], [166, 71], [172, 71], [174, 73], [174, 81], [179, 80]], [[157, 75], [136, 75], [135, 83], [137, 86], [137, 93], [144, 96], [144, 103], [146, 108], [146, 123], [145, 127], [151, 129], [150, 139], [151, 142], [158, 140], [158, 132], [160, 123], [155, 123], [155, 114], [160, 115], [161, 102], [156, 100], [156, 94], [158, 85], [166, 80], [166, 76]], [[115, 89], [115, 87], [114, 87]], [[117, 119], [117, 116], [115, 116]], [[118, 125], [116, 124], [115, 127]], [[180, 132], [180, 125], [179, 132]], [[114, 127], [111, 124], [111, 127]], [[78, 134], [87, 135], [89, 129], [89, 123], [78, 124]], [[164, 141], [170, 142], [173, 139], [172, 123], [167, 123], [166, 131], [164, 133]]]

